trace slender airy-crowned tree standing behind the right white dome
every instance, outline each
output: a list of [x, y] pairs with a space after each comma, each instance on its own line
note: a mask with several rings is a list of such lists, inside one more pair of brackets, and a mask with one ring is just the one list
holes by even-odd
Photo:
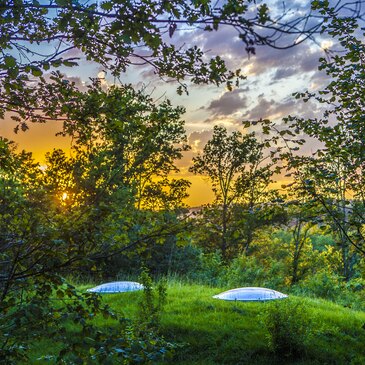
[[[243, 209], [253, 215], [254, 208], [272, 197], [267, 188], [272, 181], [273, 170], [272, 163], [265, 164], [265, 143], [258, 142], [254, 133], [233, 132], [228, 135], [224, 127], [215, 126], [212, 139], [204, 146], [203, 153], [193, 158], [190, 171], [208, 176], [212, 184], [219, 216], [219, 248], [225, 258], [229, 248], [229, 223], [234, 210], [237, 210], [234, 205], [243, 205]], [[252, 229], [253, 222], [249, 227], [249, 230]], [[231, 233], [233, 236], [230, 238], [236, 235], [242, 240], [238, 229]], [[251, 240], [252, 237], [247, 237], [244, 250]]]

